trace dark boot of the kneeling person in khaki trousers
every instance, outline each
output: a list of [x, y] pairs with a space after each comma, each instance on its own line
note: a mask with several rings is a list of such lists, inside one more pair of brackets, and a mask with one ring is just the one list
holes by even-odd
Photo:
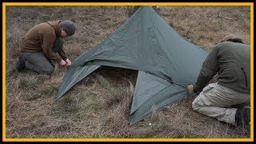
[[235, 114], [235, 122], [237, 126], [241, 126], [246, 133], [249, 133], [249, 129], [250, 129], [250, 107], [249, 106], [238, 108]]

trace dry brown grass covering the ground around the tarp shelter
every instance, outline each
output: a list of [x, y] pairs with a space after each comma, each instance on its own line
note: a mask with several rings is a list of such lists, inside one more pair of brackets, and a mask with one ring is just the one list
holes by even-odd
[[[160, 7], [162, 18], [198, 46], [210, 49], [226, 34], [250, 43], [249, 6]], [[112, 34], [127, 16], [125, 6], [7, 6], [6, 138], [250, 137], [237, 127], [194, 112], [194, 98], [167, 106], [129, 126], [136, 70], [104, 66], [55, 102], [65, 68], [57, 67], [51, 76], [15, 69], [20, 54], [18, 42], [35, 24], [74, 21], [78, 32], [65, 43], [66, 54], [73, 61]]]

